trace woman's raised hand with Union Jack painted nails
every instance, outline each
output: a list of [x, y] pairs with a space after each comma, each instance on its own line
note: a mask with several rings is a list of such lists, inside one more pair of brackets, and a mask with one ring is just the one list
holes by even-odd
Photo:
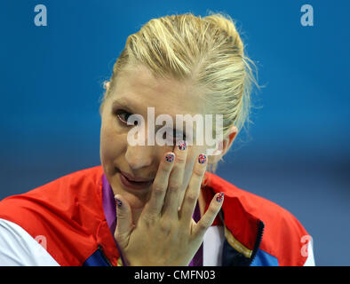
[[[160, 162], [149, 201], [132, 224], [131, 207], [122, 195], [116, 209], [115, 241], [127, 265], [188, 265], [203, 242], [203, 235], [219, 213], [222, 198], [217, 193], [203, 217], [196, 224], [192, 216], [207, 166], [207, 158], [196, 157], [182, 207], [178, 210], [187, 149], [175, 147]], [[169, 162], [169, 157], [173, 161]], [[203, 157], [203, 156], [202, 156]], [[217, 199], [218, 198], [218, 199]]]

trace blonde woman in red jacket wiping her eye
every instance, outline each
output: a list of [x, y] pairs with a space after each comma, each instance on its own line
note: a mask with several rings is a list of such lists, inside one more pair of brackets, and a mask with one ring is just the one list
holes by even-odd
[[[219, 13], [129, 36], [99, 108], [101, 166], [0, 202], [0, 264], [314, 264], [295, 217], [213, 173], [248, 118], [249, 62]], [[151, 114], [171, 122], [159, 129]], [[178, 123], [207, 114], [222, 125]], [[209, 127], [213, 151], [200, 143]]]

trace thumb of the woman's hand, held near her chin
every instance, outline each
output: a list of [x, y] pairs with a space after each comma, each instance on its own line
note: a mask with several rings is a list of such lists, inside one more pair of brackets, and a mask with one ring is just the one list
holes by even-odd
[[130, 234], [133, 229], [132, 214], [129, 203], [122, 195], [115, 195], [116, 203], [116, 227], [115, 227], [115, 241], [125, 248], [129, 242]]

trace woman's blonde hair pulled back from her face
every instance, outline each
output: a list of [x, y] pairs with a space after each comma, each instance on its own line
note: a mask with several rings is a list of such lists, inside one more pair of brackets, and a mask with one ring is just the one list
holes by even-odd
[[[128, 36], [113, 67], [110, 82], [105, 82], [99, 113], [116, 77], [128, 67], [143, 65], [156, 78], [191, 80], [204, 90], [203, 98], [223, 114], [223, 136], [232, 126], [238, 132], [249, 122], [251, 86], [255, 81], [243, 41], [230, 16], [211, 13], [196, 17], [192, 13], [149, 20]], [[258, 86], [259, 87], [259, 86]], [[215, 172], [217, 164], [211, 165]]]

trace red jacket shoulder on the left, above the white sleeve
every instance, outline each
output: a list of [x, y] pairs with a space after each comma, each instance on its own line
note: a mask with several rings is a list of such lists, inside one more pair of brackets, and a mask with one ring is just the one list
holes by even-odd
[[102, 173], [101, 166], [78, 170], [9, 196], [0, 201], [0, 218], [20, 225], [33, 238], [44, 235], [60, 264], [80, 265], [95, 248], [94, 231], [104, 220]]

